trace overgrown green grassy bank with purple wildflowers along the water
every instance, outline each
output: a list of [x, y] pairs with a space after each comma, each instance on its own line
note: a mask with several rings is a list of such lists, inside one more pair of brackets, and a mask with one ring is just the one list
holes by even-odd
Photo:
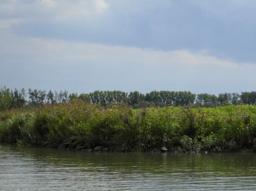
[[45, 147], [80, 141], [118, 151], [256, 150], [256, 107], [106, 109], [76, 100], [0, 113], [0, 141]]

